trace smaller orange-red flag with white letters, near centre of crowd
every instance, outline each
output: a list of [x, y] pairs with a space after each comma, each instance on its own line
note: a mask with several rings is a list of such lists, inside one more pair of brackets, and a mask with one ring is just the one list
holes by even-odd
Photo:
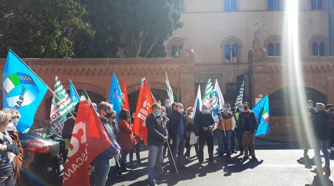
[[147, 84], [147, 81], [144, 79], [143, 83], [140, 85], [139, 97], [136, 108], [136, 117], [132, 131], [140, 136], [144, 143], [147, 145], [147, 128], [146, 128], [146, 117], [151, 112], [151, 106], [154, 103], [152, 92], [150, 87]]

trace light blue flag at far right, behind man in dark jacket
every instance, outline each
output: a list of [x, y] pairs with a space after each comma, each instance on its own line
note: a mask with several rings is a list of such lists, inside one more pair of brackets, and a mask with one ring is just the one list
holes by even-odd
[[268, 95], [260, 100], [252, 111], [258, 119], [258, 130], [255, 135], [263, 135], [269, 133], [269, 100]]

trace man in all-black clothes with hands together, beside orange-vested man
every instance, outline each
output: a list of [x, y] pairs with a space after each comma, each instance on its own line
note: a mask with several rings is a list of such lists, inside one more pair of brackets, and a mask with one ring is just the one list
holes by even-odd
[[209, 155], [209, 164], [217, 165], [214, 161], [214, 136], [212, 129], [215, 126], [215, 120], [206, 105], [202, 105], [202, 112], [195, 115], [195, 125], [200, 126], [199, 135], [198, 135], [198, 166], [203, 166], [204, 161], [204, 145], [207, 144], [207, 152]]

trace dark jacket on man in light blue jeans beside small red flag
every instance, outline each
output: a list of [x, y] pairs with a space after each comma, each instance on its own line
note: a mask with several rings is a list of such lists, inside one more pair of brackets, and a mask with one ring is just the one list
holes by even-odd
[[154, 146], [163, 146], [164, 137], [168, 137], [168, 131], [165, 122], [161, 116], [149, 114], [145, 120], [147, 128], [147, 144]]

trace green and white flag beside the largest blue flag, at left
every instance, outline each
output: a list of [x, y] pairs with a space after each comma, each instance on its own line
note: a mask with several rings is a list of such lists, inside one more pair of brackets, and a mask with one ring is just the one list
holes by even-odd
[[69, 111], [74, 110], [74, 106], [57, 75], [55, 79], [54, 92], [60, 100], [55, 95], [53, 95], [50, 112], [50, 124], [52, 130], [61, 136], [62, 130], [64, 128], [64, 122], [67, 119], [66, 116]]

